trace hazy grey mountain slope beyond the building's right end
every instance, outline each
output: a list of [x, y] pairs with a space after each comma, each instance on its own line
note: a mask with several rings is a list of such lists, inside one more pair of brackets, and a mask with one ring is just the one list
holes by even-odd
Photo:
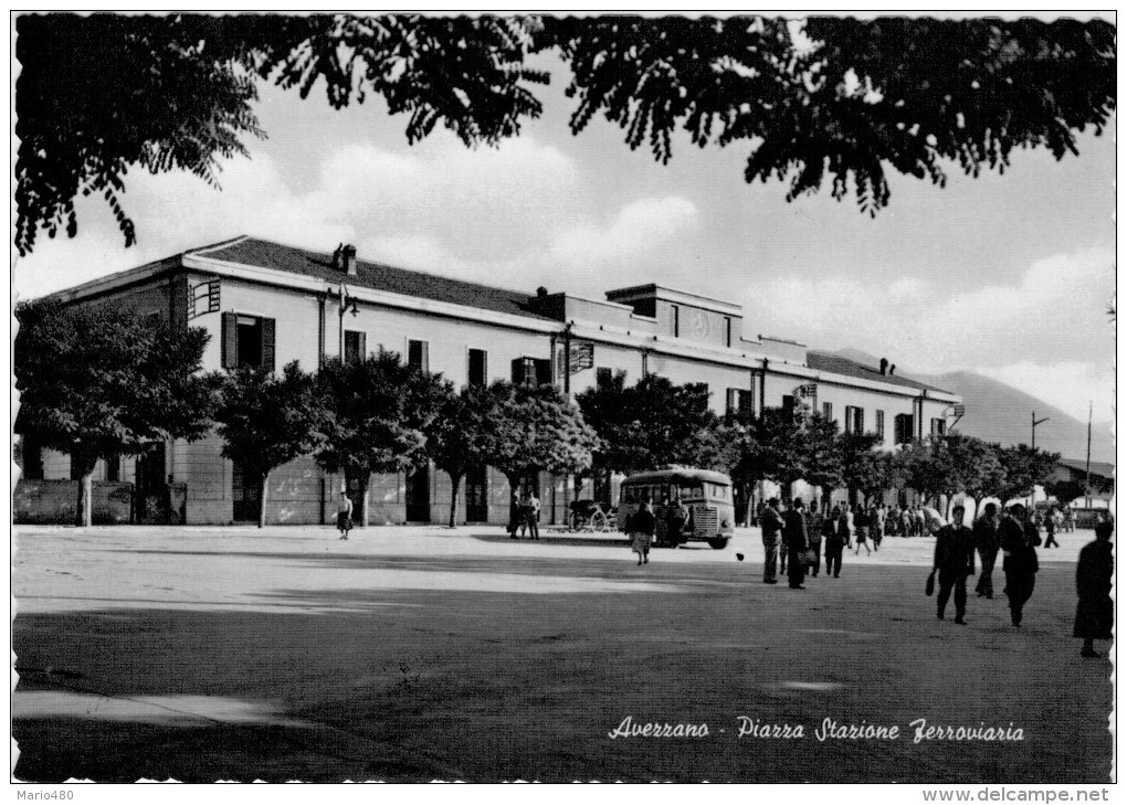
[[[838, 349], [836, 354], [866, 366], [876, 367], [880, 364], [879, 358], [859, 349]], [[1048, 422], [1037, 426], [1037, 446], [1050, 453], [1059, 453], [1064, 458], [1084, 459], [1088, 423], [1070, 417], [1044, 400], [975, 372], [924, 375], [897, 367], [896, 374], [961, 396], [967, 413], [959, 421], [958, 430], [964, 433], [1003, 445], [1028, 445], [1029, 415], [1036, 411], [1038, 419], [1049, 418]], [[1092, 423], [1092, 460], [1116, 460], [1110, 422]]]

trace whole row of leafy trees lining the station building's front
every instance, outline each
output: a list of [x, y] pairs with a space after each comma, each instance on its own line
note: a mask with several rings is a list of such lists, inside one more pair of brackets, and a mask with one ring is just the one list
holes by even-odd
[[212, 429], [225, 442], [223, 455], [258, 484], [259, 526], [269, 474], [304, 455], [355, 483], [365, 506], [372, 474], [431, 460], [451, 477], [451, 525], [460, 482], [486, 465], [513, 491], [538, 471], [575, 475], [582, 484], [669, 464], [719, 469], [731, 475], [747, 512], [762, 481], [784, 490], [800, 480], [826, 492], [848, 489], [854, 500], [903, 488], [925, 500], [957, 492], [1006, 500], [1042, 483], [1057, 459], [953, 432], [881, 450], [876, 435], [842, 433], [800, 405], [721, 418], [709, 409], [703, 385], [657, 375], [627, 386], [620, 374], [571, 402], [549, 385], [498, 382], [459, 391], [383, 349], [353, 361], [328, 359], [316, 374], [296, 363], [278, 374], [247, 367], [205, 374], [208, 337], [198, 329], [171, 330], [114, 306], [54, 302], [23, 304], [17, 319], [16, 432], [70, 455], [81, 477], [80, 525], [91, 521], [99, 458], [199, 439]]

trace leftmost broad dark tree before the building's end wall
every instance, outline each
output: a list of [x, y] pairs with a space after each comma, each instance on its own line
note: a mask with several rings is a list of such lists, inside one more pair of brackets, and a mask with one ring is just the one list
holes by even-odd
[[15, 430], [70, 456], [82, 477], [79, 525], [90, 525], [90, 475], [99, 458], [207, 433], [214, 387], [199, 374], [204, 330], [154, 327], [113, 303], [34, 302], [17, 306], [16, 317]]

